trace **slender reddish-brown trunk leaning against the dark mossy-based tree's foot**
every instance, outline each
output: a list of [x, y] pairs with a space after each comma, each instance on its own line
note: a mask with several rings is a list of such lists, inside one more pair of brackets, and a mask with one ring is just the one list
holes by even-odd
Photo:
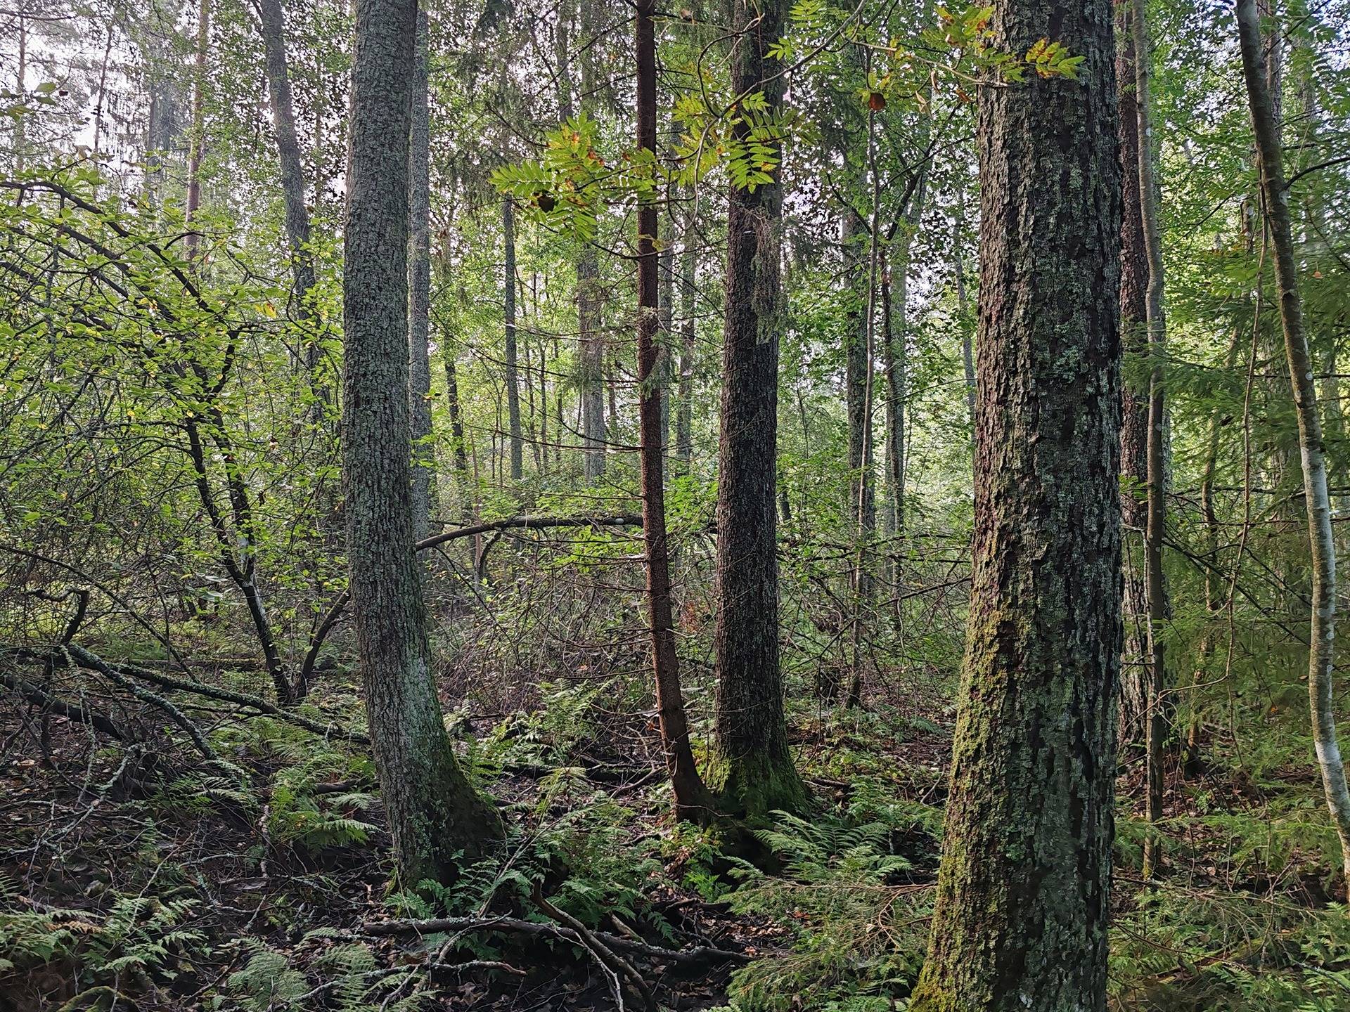
[[[637, 147], [656, 152], [656, 32], [655, 0], [637, 0]], [[675, 796], [675, 815], [707, 822], [713, 799], [698, 773], [688, 741], [688, 718], [680, 688], [671, 609], [670, 553], [666, 541], [664, 444], [662, 439], [660, 351], [657, 347], [656, 204], [637, 205], [637, 385], [643, 487], [643, 540], [647, 546], [647, 615], [662, 745]], [[772, 487], [772, 484], [771, 484]]]

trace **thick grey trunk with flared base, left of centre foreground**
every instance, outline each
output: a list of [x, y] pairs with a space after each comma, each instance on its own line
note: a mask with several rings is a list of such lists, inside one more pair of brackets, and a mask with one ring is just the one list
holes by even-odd
[[408, 426], [408, 144], [416, 0], [358, 0], [343, 309], [343, 490], [370, 739], [409, 887], [481, 853], [497, 812], [441, 723], [413, 549]]

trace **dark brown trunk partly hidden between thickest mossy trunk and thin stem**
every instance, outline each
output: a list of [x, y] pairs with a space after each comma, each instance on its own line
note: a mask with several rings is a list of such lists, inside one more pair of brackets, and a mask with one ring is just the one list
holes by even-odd
[[[1139, 205], [1139, 116], [1134, 84], [1131, 4], [1116, 5], [1116, 78], [1120, 86], [1120, 341], [1126, 355], [1148, 349], [1149, 256]], [[1120, 665], [1120, 746], [1142, 748], [1146, 737], [1148, 592], [1143, 532], [1149, 483], [1149, 386], [1126, 375], [1120, 386], [1120, 514], [1125, 521], [1125, 652]]]

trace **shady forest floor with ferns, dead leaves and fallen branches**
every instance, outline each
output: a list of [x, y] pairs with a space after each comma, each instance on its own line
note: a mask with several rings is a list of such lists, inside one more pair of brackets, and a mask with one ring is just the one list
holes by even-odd
[[[212, 766], [108, 748], [8, 694], [0, 1012], [641, 1008], [595, 940], [664, 1008], [891, 1008], [922, 962], [937, 868], [952, 721], [937, 684], [880, 685], [849, 716], [794, 714], [818, 810], [767, 827], [760, 868], [671, 822], [640, 695], [628, 706], [591, 680], [543, 687], [532, 711], [454, 710], [451, 727], [475, 733], [464, 761], [520, 828], [454, 889], [418, 896], [387, 893], [373, 769], [340, 738], [193, 708], [223, 761]], [[86, 690], [86, 704], [116, 706], [157, 739], [158, 714]], [[305, 712], [354, 703], [335, 681]], [[1315, 797], [1310, 770], [1173, 779], [1165, 885], [1139, 880], [1141, 828], [1122, 812], [1115, 1008], [1281, 1008], [1257, 1004], [1265, 977], [1307, 992], [1289, 1008], [1350, 1008], [1350, 928], [1311, 830], [1300, 835], [1312, 812], [1278, 800]], [[559, 936], [536, 896], [595, 934]], [[444, 915], [454, 930], [379, 927]]]

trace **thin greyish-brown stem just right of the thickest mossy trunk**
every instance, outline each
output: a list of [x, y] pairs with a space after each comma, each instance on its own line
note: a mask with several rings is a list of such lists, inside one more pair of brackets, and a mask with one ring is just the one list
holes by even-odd
[[[1148, 637], [1148, 723], [1146, 723], [1146, 818], [1150, 826], [1162, 819], [1162, 741], [1166, 737], [1166, 714], [1162, 692], [1166, 684], [1162, 625], [1166, 621], [1166, 588], [1162, 579], [1162, 537], [1166, 522], [1166, 464], [1162, 445], [1164, 390], [1162, 355], [1166, 351], [1166, 316], [1164, 305], [1162, 233], [1158, 224], [1158, 181], [1154, 171], [1152, 112], [1149, 108], [1149, 30], [1143, 0], [1131, 1], [1131, 35], [1134, 38], [1134, 90], [1138, 125], [1139, 212], [1143, 221], [1143, 248], [1149, 262], [1149, 287], [1145, 294], [1145, 321], [1149, 340], [1149, 441], [1148, 441], [1148, 528], [1143, 538], [1146, 598], [1149, 607]], [[1143, 877], [1157, 874], [1160, 841], [1156, 830], [1143, 841]]]

